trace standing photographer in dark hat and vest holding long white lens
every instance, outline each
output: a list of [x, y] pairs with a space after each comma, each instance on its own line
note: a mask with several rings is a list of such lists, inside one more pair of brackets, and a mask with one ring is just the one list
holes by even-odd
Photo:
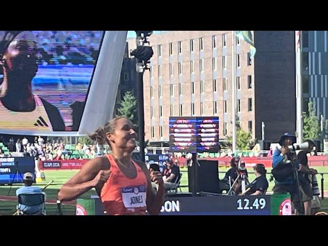
[[295, 142], [296, 136], [290, 133], [285, 133], [279, 140], [282, 148], [281, 150], [276, 149], [272, 158], [272, 174], [275, 178], [275, 186], [272, 191], [274, 194], [290, 193], [295, 210], [299, 214], [304, 214], [298, 185], [297, 170], [299, 168], [296, 153], [288, 148]]

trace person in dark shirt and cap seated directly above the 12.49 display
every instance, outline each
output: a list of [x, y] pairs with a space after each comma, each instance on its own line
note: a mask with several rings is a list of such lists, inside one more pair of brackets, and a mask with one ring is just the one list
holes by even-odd
[[253, 182], [248, 185], [245, 195], [251, 195], [251, 196], [259, 196], [259, 195], [265, 195], [265, 192], [267, 192], [267, 189], [269, 187], [269, 182], [267, 177], [265, 177], [265, 174], [267, 174], [267, 170], [265, 169], [265, 166], [261, 163], [258, 163], [254, 166], [254, 174], [256, 178], [253, 180]]

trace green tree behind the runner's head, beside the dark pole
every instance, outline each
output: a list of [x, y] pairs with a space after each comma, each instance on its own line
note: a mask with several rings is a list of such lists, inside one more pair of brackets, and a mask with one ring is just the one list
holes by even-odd
[[117, 116], [123, 116], [130, 119], [133, 126], [138, 128], [137, 99], [132, 91], [127, 91], [124, 94], [123, 100], [120, 101], [120, 108], [118, 109]]

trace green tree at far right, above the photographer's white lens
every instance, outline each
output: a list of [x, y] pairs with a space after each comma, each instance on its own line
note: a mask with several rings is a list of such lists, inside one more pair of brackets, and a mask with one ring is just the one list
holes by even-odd
[[319, 139], [320, 125], [319, 117], [316, 115], [316, 110], [312, 101], [309, 102], [309, 112], [302, 112], [303, 118], [303, 140], [304, 139]]

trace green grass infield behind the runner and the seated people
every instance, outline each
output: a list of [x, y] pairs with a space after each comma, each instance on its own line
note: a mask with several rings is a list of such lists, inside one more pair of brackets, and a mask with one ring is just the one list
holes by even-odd
[[[328, 167], [316, 167], [319, 173], [328, 173]], [[182, 178], [181, 178], [181, 186], [188, 186], [188, 172], [186, 168], [181, 168]], [[224, 173], [228, 170], [228, 168], [220, 168], [219, 177], [223, 178]], [[268, 169], [270, 172], [271, 169]], [[51, 180], [54, 180], [53, 183], [45, 190], [47, 193], [47, 199], [56, 199], [58, 190], [60, 187], [68, 181], [74, 174], [78, 171], [76, 170], [60, 170], [60, 171], [45, 171], [46, 180], [37, 183], [37, 186], [41, 189], [44, 188], [47, 183]], [[222, 173], [221, 173], [222, 172]], [[248, 172], [253, 172], [252, 169], [248, 169]], [[268, 180], [270, 179], [270, 174], [267, 174]], [[317, 175], [319, 188], [321, 187], [321, 175]], [[249, 174], [250, 181], [255, 179], [254, 174]], [[15, 196], [16, 190], [22, 185], [13, 185], [10, 191], [10, 196]], [[274, 186], [274, 182], [269, 181], [269, 189], [268, 192], [272, 191], [272, 187]], [[0, 186], [0, 195], [7, 196], [10, 186]], [[328, 191], [328, 175], [324, 175], [324, 190]], [[180, 191], [180, 190], [179, 190]], [[182, 192], [188, 192], [188, 187], [181, 188]], [[91, 195], [96, 195], [94, 189], [89, 192], [83, 194], [80, 198], [90, 198]], [[75, 206], [71, 204], [62, 204], [61, 206], [64, 215], [75, 215]], [[46, 204], [46, 210], [48, 215], [55, 215], [57, 206], [56, 204]], [[328, 197], [324, 200], [321, 200], [321, 210], [328, 212]], [[0, 214], [11, 215], [16, 211], [16, 202], [15, 201], [0, 201]]]

